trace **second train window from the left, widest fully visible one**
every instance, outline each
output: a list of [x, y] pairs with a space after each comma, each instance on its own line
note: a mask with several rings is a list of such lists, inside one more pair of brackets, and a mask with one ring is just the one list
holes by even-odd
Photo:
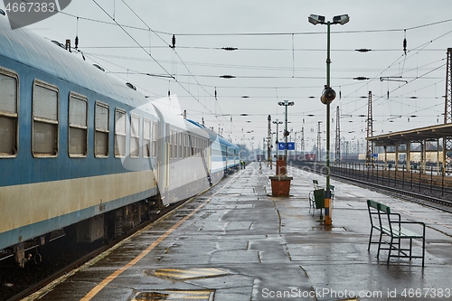
[[34, 156], [58, 155], [58, 100], [57, 87], [34, 80], [32, 137]]

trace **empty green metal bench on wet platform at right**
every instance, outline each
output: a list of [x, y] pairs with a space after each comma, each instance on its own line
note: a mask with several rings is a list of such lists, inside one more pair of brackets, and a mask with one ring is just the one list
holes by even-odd
[[[388, 250], [387, 264], [391, 258], [422, 259], [422, 267], [425, 261], [425, 223], [421, 221], [401, 221], [399, 213], [392, 213], [391, 208], [380, 202], [367, 200], [367, 209], [371, 220], [371, 234], [369, 238], [368, 250], [371, 244], [378, 244], [377, 258], [381, 249]], [[414, 230], [403, 228], [402, 225], [416, 226], [421, 229], [421, 234]], [[379, 240], [372, 240], [373, 230], [380, 232]], [[389, 241], [384, 241], [388, 237]], [[409, 246], [402, 246], [403, 240], [410, 240]], [[413, 240], [422, 240], [422, 255], [413, 255]], [[388, 245], [387, 248], [382, 246]]]

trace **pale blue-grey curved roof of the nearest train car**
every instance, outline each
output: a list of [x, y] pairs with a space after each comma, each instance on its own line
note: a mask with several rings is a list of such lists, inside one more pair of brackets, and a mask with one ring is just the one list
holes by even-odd
[[[148, 102], [136, 89], [127, 87], [125, 82], [82, 61], [80, 56], [62, 49], [54, 42], [26, 28], [12, 30], [7, 18], [2, 15], [0, 15], [0, 45], [0, 55], [61, 80], [67, 80], [135, 108]], [[152, 107], [146, 106], [145, 109]]]

